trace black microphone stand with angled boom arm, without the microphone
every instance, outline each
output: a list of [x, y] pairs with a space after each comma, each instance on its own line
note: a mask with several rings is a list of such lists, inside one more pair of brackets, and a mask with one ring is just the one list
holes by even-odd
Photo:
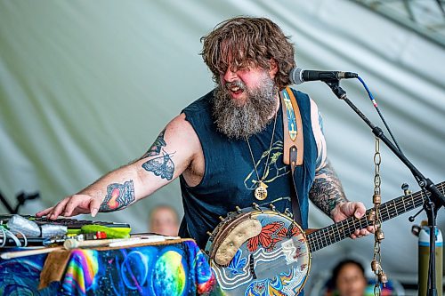
[[[425, 201], [424, 209], [426, 212], [426, 215], [428, 217], [428, 227], [430, 228], [430, 260], [429, 260], [429, 268], [428, 268], [428, 288], [426, 295], [428, 296], [436, 296], [437, 295], [437, 288], [436, 288], [436, 275], [435, 275], [435, 247], [436, 247], [436, 217], [437, 217], [437, 211], [441, 208], [442, 205], [445, 205], [445, 196], [441, 194], [441, 191], [439, 191], [438, 188], [436, 188], [432, 182], [432, 180], [425, 178], [425, 176], [417, 170], [416, 166], [414, 164], [411, 164], [409, 159], [404, 156], [401, 151], [395, 147], [394, 144], [392, 144], [392, 141], [388, 140], [386, 136], [384, 135], [384, 132], [382, 129], [380, 129], [378, 126], [372, 124], [368, 118], [360, 111], [359, 108], [357, 108], [351, 100], [348, 99], [346, 96], [346, 92], [344, 92], [344, 89], [339, 84], [339, 79], [336, 78], [329, 78], [323, 80], [324, 83], [328, 84], [328, 86], [331, 88], [332, 92], [336, 94], [336, 97], [340, 100], [344, 100], [346, 104], [349, 105], [349, 107], [352, 108], [352, 110], [357, 113], [358, 116], [370, 127], [371, 131], [376, 135], [376, 137], [384, 142], [388, 148], [391, 149], [391, 151], [399, 157], [401, 162], [405, 164], [409, 171], [412, 172], [415, 179], [417, 180], [418, 185], [422, 190], [425, 192], [425, 195], [428, 197], [429, 201]], [[429, 193], [429, 195], [427, 194]]]

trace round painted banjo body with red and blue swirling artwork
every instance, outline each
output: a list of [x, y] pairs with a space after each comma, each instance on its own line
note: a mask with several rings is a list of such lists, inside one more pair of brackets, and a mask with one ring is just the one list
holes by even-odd
[[214, 229], [206, 253], [225, 295], [296, 295], [311, 266], [303, 229], [267, 209], [230, 213]]

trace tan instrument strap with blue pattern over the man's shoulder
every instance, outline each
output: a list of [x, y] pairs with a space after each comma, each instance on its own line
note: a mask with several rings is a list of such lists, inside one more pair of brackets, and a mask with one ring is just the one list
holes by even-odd
[[279, 92], [279, 97], [281, 99], [281, 105], [283, 106], [283, 162], [285, 164], [290, 164], [292, 172], [292, 213], [294, 215], [294, 220], [299, 225], [303, 225], [300, 201], [298, 199], [298, 192], [296, 191], [294, 178], [295, 167], [303, 164], [303, 121], [300, 114], [300, 108], [298, 108], [298, 104], [295, 100], [294, 92], [287, 87], [285, 90]]

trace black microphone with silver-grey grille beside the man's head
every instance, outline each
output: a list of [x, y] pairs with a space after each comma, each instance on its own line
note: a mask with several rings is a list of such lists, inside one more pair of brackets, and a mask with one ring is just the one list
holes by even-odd
[[315, 71], [315, 70], [303, 70], [302, 68], [293, 68], [290, 70], [289, 79], [293, 84], [303, 84], [307, 81], [332, 81], [344, 78], [357, 78], [359, 75], [352, 72], [340, 72], [340, 71]]

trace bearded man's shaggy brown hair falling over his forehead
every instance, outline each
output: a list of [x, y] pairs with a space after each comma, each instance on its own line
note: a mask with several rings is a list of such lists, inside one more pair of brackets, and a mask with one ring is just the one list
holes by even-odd
[[202, 36], [201, 42], [200, 54], [212, 71], [214, 82], [226, 72], [230, 56], [232, 71], [249, 66], [269, 69], [273, 59], [279, 68], [274, 79], [279, 90], [291, 84], [289, 72], [295, 67], [294, 44], [271, 20], [251, 17], [225, 20]]

